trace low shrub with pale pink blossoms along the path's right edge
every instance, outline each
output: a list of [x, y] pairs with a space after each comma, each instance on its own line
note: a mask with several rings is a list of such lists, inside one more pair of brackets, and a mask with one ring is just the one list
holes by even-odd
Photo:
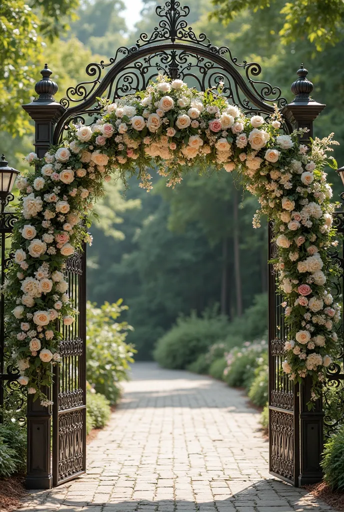
[[254, 380], [254, 370], [262, 364], [262, 355], [267, 351], [267, 342], [246, 342], [226, 354], [227, 368], [224, 380], [228, 386], [248, 389]]

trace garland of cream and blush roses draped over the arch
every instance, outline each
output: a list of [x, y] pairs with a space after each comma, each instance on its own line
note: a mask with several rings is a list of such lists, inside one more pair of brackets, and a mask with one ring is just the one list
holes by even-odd
[[286, 343], [283, 369], [300, 381], [310, 374], [313, 398], [331, 364], [337, 341], [333, 327], [340, 309], [330, 277], [336, 267], [328, 255], [332, 228], [331, 187], [322, 170], [329, 163], [332, 135], [310, 148], [298, 143], [302, 131], [281, 135], [278, 110], [268, 120], [251, 118], [221, 95], [222, 86], [204, 93], [182, 80], [158, 76], [147, 90], [116, 103], [101, 100], [102, 115], [91, 126], [71, 124], [60, 147], [44, 159], [27, 160], [35, 172], [20, 177], [19, 219], [13, 230], [14, 265], [7, 274], [7, 334], [13, 359], [28, 392], [50, 402], [41, 387], [50, 386], [51, 364], [59, 360], [59, 324], [71, 325], [75, 311], [67, 294], [66, 259], [91, 241], [85, 227], [89, 210], [103, 194], [111, 174], [125, 182], [137, 174], [152, 188], [149, 168], [182, 180], [188, 167], [237, 169], [256, 195], [261, 212], [274, 223], [279, 286], [284, 293]]

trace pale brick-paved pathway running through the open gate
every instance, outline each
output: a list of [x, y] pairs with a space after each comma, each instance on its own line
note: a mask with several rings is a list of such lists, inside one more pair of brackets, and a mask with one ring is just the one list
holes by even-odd
[[258, 419], [222, 382], [136, 363], [110, 424], [88, 446], [87, 475], [31, 492], [20, 511], [331, 512], [269, 476]]

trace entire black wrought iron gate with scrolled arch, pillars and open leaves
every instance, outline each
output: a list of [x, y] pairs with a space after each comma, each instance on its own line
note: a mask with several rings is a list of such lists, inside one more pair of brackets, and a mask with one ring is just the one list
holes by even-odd
[[[232, 56], [229, 48], [218, 48], [211, 44], [205, 34], [197, 35], [186, 19], [188, 7], [181, 7], [176, 0], [168, 0], [165, 6], [156, 8], [156, 13], [160, 20], [152, 34], [141, 34], [131, 48], [120, 47], [107, 63], [91, 62], [86, 68], [90, 81], [70, 87], [60, 103], [54, 99], [57, 84], [50, 79], [52, 72], [47, 66], [42, 70], [43, 78], [35, 86], [38, 98], [24, 105], [24, 109], [35, 121], [35, 148], [39, 157], [44, 156], [51, 143], [57, 144], [61, 141], [71, 121], [91, 124], [97, 119], [100, 115], [98, 97], [107, 97], [113, 102], [116, 98], [134, 94], [145, 89], [149, 80], [159, 73], [183, 79], [190, 87], [194, 86], [203, 91], [222, 81], [223, 94], [231, 103], [240, 105], [248, 115], [268, 116], [274, 112], [273, 104], [276, 103], [279, 108], [283, 108], [283, 128], [286, 133], [292, 127], [308, 127], [311, 130], [309, 136], [313, 135], [312, 122], [325, 105], [310, 98], [313, 86], [306, 79], [307, 70], [302, 67], [298, 71], [298, 79], [292, 85], [295, 99], [287, 104], [278, 87], [257, 80], [261, 73], [258, 63], [240, 63]], [[271, 241], [271, 231], [269, 240]], [[271, 250], [272, 247], [270, 255]], [[55, 375], [54, 485], [82, 473], [85, 463], [85, 254], [69, 260], [67, 271], [70, 291], [79, 309], [79, 321], [76, 331], [71, 328], [63, 331], [64, 339], [60, 344], [61, 362]], [[299, 416], [295, 389], [280, 373], [287, 332], [283, 325], [281, 300], [276, 296], [271, 269], [269, 286], [270, 469], [274, 475], [296, 484], [299, 473], [298, 455], [301, 455], [302, 466], [302, 454], [304, 451], [313, 450], [313, 447], [298, 449], [298, 425], [301, 425], [300, 432], [306, 432], [303, 430], [306, 419], [304, 421]], [[29, 402], [29, 439], [32, 439], [31, 444], [37, 444], [40, 439], [40, 444], [46, 447], [47, 453], [50, 450], [50, 421], [50, 411], [47, 408], [42, 410], [32, 401]], [[309, 418], [307, 421], [309, 422]], [[42, 424], [45, 428], [37, 434], [39, 425]], [[321, 428], [320, 418], [316, 429], [320, 432]], [[308, 468], [305, 465], [302, 471], [307, 477]], [[309, 478], [314, 480], [318, 476], [313, 472]], [[35, 463], [35, 467], [29, 461], [27, 482], [31, 488], [51, 485], [50, 457], [42, 457], [40, 462]]]

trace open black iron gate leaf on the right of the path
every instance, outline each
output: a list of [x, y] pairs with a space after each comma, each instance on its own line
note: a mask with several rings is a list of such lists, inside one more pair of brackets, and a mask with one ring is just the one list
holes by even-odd
[[[268, 228], [269, 261], [276, 256], [273, 226]], [[283, 372], [284, 345], [288, 327], [284, 323], [283, 297], [277, 292], [276, 275], [269, 264], [269, 471], [298, 485], [299, 421], [298, 386]]]

